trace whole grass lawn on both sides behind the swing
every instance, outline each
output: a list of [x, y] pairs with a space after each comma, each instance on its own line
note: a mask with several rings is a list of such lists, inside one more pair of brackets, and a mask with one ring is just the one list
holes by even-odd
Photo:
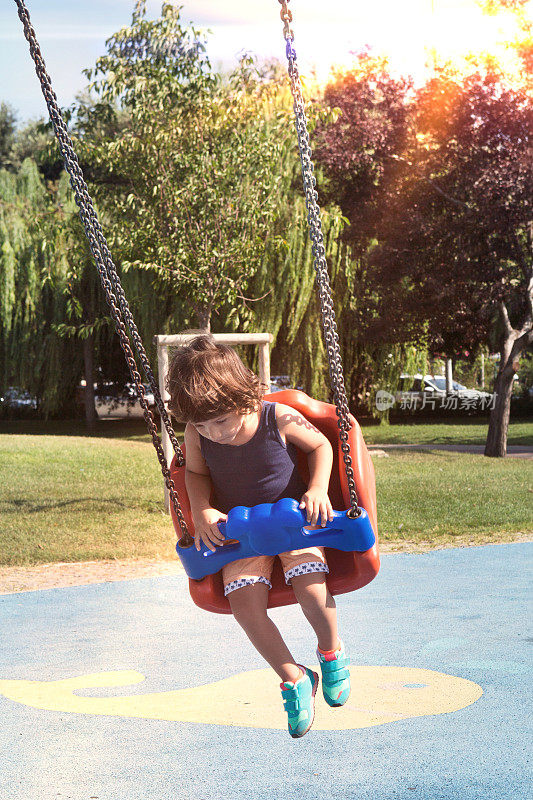
[[[0, 564], [174, 557], [159, 464], [142, 420], [133, 423], [104, 422], [91, 437], [72, 435], [82, 432], [72, 428], [78, 423], [2, 424]], [[399, 433], [396, 427], [389, 433]], [[418, 442], [457, 436], [456, 428], [464, 435], [445, 441], [472, 442], [479, 435], [465, 426], [442, 426], [446, 434], [436, 430], [441, 426], [413, 427]], [[531, 427], [519, 424], [510, 439], [527, 437]], [[377, 443], [368, 434], [384, 430], [368, 428], [367, 440]], [[401, 441], [413, 441], [404, 435]], [[533, 533], [531, 461], [429, 451], [394, 452], [374, 463], [380, 537], [393, 546]]]

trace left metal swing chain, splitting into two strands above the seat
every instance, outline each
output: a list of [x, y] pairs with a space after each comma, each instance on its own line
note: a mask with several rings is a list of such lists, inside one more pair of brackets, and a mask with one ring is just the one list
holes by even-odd
[[87, 185], [84, 181], [83, 173], [81, 171], [77, 156], [74, 152], [72, 146], [72, 140], [69, 136], [66, 124], [61, 116], [61, 111], [59, 109], [56, 95], [52, 89], [50, 77], [46, 71], [44, 60], [41, 55], [41, 50], [36, 39], [35, 31], [30, 22], [30, 16], [28, 10], [24, 4], [24, 0], [15, 0], [15, 3], [17, 4], [18, 15], [24, 28], [24, 36], [26, 37], [28, 44], [30, 46], [31, 57], [35, 63], [35, 71], [37, 73], [37, 77], [39, 78], [39, 82], [41, 84], [41, 89], [43, 92], [44, 99], [46, 101], [46, 105], [48, 107], [50, 120], [52, 122], [58, 140], [59, 149], [63, 157], [65, 169], [70, 177], [70, 183], [74, 190], [76, 204], [79, 209], [79, 215], [85, 230], [85, 234], [89, 241], [89, 246], [96, 264], [96, 268], [100, 275], [100, 280], [102, 283], [106, 301], [109, 305], [111, 316], [115, 323], [115, 328], [120, 339], [120, 344], [122, 350], [124, 351], [126, 362], [128, 364], [132, 380], [135, 384], [135, 388], [139, 396], [139, 402], [143, 409], [143, 416], [146, 421], [148, 430], [151, 434], [152, 443], [154, 445], [157, 457], [159, 459], [159, 463], [161, 465], [161, 471], [165, 479], [165, 484], [169, 491], [170, 499], [183, 534], [182, 538], [180, 539], [180, 546], [188, 547], [192, 544], [193, 539], [187, 529], [187, 523], [185, 522], [185, 518], [181, 510], [179, 498], [176, 492], [176, 487], [170, 475], [165, 454], [163, 452], [161, 439], [159, 438], [159, 435], [157, 433], [153, 415], [150, 409], [148, 408], [148, 403], [144, 395], [144, 387], [142, 385], [141, 375], [137, 369], [135, 357], [131, 349], [131, 344], [126, 330], [126, 326], [124, 324], [124, 319], [128, 324], [131, 338], [133, 339], [136, 351], [143, 365], [145, 375], [150, 382], [150, 386], [154, 394], [154, 399], [156, 401], [157, 408], [159, 410], [159, 413], [161, 414], [161, 419], [167, 429], [170, 440], [174, 447], [174, 451], [176, 453], [178, 463], [180, 465], [183, 465], [184, 463], [184, 456], [179, 446], [179, 443], [176, 439], [176, 435], [174, 433], [172, 425], [170, 423], [170, 419], [167, 410], [164, 406], [163, 400], [161, 398], [161, 394], [159, 392], [159, 388], [157, 386], [150, 363], [148, 361], [146, 351], [144, 350], [144, 346], [142, 344], [139, 332], [135, 325], [135, 321], [133, 319], [127, 300], [125, 298], [124, 291], [120, 283], [120, 278], [118, 276], [115, 264], [112, 260], [105, 236], [103, 234], [102, 228], [98, 220], [98, 216], [96, 214], [94, 205], [89, 195]]

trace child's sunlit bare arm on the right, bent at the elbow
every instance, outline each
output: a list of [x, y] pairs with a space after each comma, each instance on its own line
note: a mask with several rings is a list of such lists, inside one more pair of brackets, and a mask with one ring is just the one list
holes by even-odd
[[307, 511], [307, 521], [316, 525], [320, 517], [324, 526], [333, 519], [333, 507], [328, 497], [329, 478], [333, 464], [331, 445], [318, 428], [290, 406], [278, 403], [276, 419], [281, 437], [307, 453], [309, 486], [300, 508]]

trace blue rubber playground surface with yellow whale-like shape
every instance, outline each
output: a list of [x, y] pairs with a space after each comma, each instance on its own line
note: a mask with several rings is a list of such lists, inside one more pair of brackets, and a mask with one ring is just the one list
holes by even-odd
[[[527, 800], [527, 543], [389, 554], [337, 598], [352, 697], [278, 681], [184, 576], [0, 597], [1, 800]], [[295, 606], [273, 619], [316, 663]]]

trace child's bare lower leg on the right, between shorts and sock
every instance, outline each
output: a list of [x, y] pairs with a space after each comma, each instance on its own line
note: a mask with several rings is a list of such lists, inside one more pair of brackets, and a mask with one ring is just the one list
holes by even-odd
[[315, 631], [321, 650], [336, 650], [337, 606], [326, 584], [323, 572], [297, 575], [291, 578], [292, 588], [302, 611]]

